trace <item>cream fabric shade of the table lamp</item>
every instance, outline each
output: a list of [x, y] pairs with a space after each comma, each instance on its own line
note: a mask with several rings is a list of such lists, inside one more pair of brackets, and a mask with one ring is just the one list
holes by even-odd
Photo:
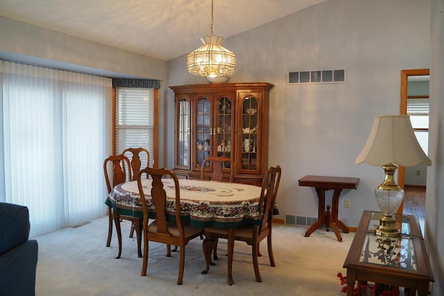
[[366, 145], [355, 159], [355, 164], [363, 162], [373, 166], [432, 165], [416, 139], [408, 115], [375, 116]]

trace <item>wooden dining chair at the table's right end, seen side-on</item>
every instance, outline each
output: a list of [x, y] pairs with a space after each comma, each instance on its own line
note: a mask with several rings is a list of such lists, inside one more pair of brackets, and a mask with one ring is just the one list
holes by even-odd
[[[279, 189], [280, 183], [280, 175], [281, 168], [280, 166], [275, 166], [268, 168], [266, 171], [264, 178], [262, 180], [262, 190], [259, 198], [259, 225], [241, 225], [241, 227], [234, 229], [234, 240], [235, 241], [244, 241], [248, 245], [252, 246], [253, 252], [253, 266], [255, 269], [256, 281], [262, 281], [261, 275], [259, 272], [259, 263], [257, 261], [257, 256], [259, 253], [259, 243], [267, 238], [267, 246], [268, 246], [268, 258], [270, 259], [271, 266], [275, 266], [275, 259], [273, 256], [273, 247], [271, 243], [271, 229], [273, 226], [273, 209], [276, 200], [276, 195]], [[204, 250], [213, 251], [214, 260], [218, 260], [216, 254], [217, 248], [217, 238], [227, 238], [228, 239], [228, 229], [220, 229], [215, 227], [206, 227], [205, 228], [205, 240], [212, 241], [213, 247], [205, 248]], [[210, 257], [211, 254], [205, 254], [205, 256]], [[229, 258], [232, 254], [228, 254]], [[208, 261], [207, 261], [207, 270], [209, 269]], [[206, 273], [203, 272], [203, 273]]]

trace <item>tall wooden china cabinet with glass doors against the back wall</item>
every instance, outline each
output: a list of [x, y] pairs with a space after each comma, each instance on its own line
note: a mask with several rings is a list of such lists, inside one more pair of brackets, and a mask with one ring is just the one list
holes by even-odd
[[226, 156], [234, 162], [235, 182], [260, 186], [268, 168], [271, 87], [267, 82], [171, 86], [175, 173], [199, 178], [205, 157]]

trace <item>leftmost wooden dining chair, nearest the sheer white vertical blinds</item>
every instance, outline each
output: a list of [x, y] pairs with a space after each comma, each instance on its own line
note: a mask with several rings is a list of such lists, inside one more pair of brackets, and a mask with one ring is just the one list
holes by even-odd
[[[109, 170], [112, 171], [112, 174], [109, 173]], [[131, 180], [132, 174], [130, 169], [130, 160], [125, 155], [110, 156], [103, 162], [103, 173], [105, 174], [108, 194], [110, 194], [114, 186], [126, 182], [127, 175], [128, 180]], [[114, 224], [116, 225], [117, 240], [119, 241], [119, 254], [117, 255], [116, 259], [120, 258], [122, 251], [122, 236], [120, 229], [121, 219], [131, 221], [131, 227], [135, 229], [137, 236], [137, 256], [142, 257], [142, 218], [117, 214], [116, 210], [111, 209], [111, 207], [108, 209], [108, 239], [106, 241], [106, 246], [109, 247], [111, 243], [112, 220], [114, 220]]]

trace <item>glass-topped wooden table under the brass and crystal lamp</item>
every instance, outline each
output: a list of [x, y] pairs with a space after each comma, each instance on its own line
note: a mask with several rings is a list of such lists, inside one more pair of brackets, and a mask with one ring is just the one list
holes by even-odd
[[355, 238], [345, 258], [347, 269], [347, 295], [353, 295], [355, 281], [358, 286], [374, 283], [404, 287], [406, 295], [428, 295], [429, 283], [434, 281], [422, 238], [418, 218], [396, 215], [400, 236], [386, 238], [375, 235], [382, 213], [364, 211]]

